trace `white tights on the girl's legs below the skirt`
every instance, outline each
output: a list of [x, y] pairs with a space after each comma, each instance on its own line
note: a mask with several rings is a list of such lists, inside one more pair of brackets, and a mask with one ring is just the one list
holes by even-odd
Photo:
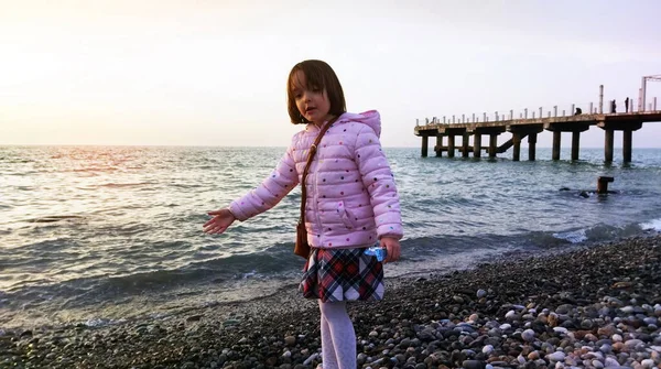
[[347, 303], [319, 300], [322, 360], [324, 369], [356, 369], [356, 332]]

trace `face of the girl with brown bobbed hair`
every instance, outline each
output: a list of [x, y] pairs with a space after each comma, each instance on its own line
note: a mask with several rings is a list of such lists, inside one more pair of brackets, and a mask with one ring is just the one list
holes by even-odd
[[299, 112], [316, 126], [322, 126], [330, 118], [330, 101], [325, 88], [310, 86], [302, 70], [297, 70], [292, 80], [294, 100]]

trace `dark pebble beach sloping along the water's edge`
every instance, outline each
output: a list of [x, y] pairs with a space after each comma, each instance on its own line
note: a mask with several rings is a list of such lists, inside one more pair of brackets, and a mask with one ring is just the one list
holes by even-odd
[[[661, 368], [661, 236], [391, 279], [349, 305], [359, 368]], [[0, 327], [0, 368], [317, 368], [295, 285], [101, 327]]]

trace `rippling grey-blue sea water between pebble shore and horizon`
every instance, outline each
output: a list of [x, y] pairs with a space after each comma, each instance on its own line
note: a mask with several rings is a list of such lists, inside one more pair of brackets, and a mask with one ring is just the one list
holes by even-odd
[[[424, 276], [661, 231], [661, 149], [538, 149], [537, 161], [386, 148], [402, 258]], [[284, 148], [0, 146], [0, 328], [164, 318], [296, 289], [296, 188], [224, 235], [207, 211], [243, 195]], [[608, 195], [594, 191], [613, 176]]]

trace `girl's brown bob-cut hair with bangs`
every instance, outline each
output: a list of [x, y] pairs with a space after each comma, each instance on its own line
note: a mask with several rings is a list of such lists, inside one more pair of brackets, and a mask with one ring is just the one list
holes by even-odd
[[347, 111], [344, 91], [342, 90], [342, 85], [339, 84], [339, 79], [337, 78], [337, 75], [333, 68], [330, 68], [326, 62], [314, 59], [303, 61], [294, 65], [292, 72], [290, 72], [286, 83], [286, 108], [292, 123], [310, 123], [310, 121], [307, 121], [307, 119], [305, 119], [305, 117], [303, 117], [299, 111], [299, 108], [296, 107], [296, 100], [294, 98], [293, 79], [299, 70], [303, 72], [303, 75], [305, 75], [305, 80], [308, 86], [312, 85], [321, 89], [326, 89], [326, 94], [328, 95], [328, 100], [330, 102], [330, 110], [328, 111], [329, 115], [339, 117]]

